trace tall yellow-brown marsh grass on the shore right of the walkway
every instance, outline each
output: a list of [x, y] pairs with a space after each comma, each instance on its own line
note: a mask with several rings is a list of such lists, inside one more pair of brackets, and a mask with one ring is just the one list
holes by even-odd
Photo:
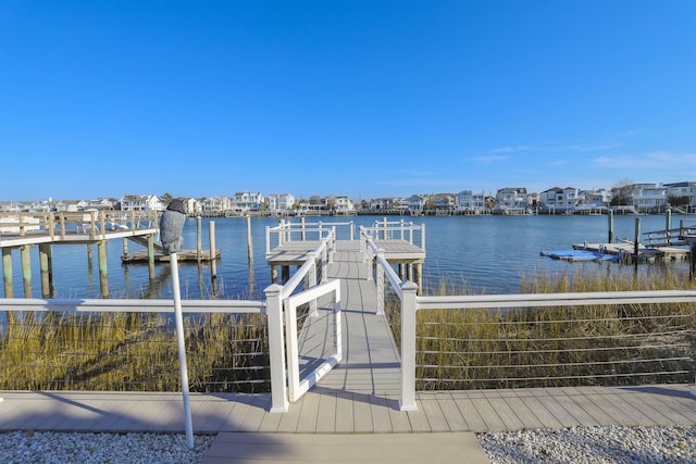
[[[544, 275], [522, 292], [693, 289], [682, 276]], [[435, 294], [465, 294], [451, 281]], [[395, 303], [398, 303], [395, 302]], [[388, 305], [398, 338], [398, 306]], [[418, 312], [418, 389], [692, 383], [693, 304]]]

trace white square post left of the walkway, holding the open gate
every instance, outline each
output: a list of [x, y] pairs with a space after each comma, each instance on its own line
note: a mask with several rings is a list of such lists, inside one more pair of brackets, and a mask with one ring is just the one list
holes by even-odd
[[[266, 228], [268, 230], [268, 228]], [[288, 409], [287, 374], [285, 372], [285, 340], [283, 337], [283, 287], [273, 284], [263, 292], [266, 298], [269, 326], [269, 356], [271, 365], [271, 412], [285, 413]]]

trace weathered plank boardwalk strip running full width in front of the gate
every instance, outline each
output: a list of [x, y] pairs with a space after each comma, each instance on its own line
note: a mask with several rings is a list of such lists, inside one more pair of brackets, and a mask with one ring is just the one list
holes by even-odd
[[[418, 392], [414, 412], [398, 396], [311, 390], [287, 413], [265, 394], [191, 394], [198, 434], [390, 434], [493, 431], [570, 426], [696, 425], [694, 386], [573, 387]], [[183, 432], [181, 396], [132, 392], [3, 391], [0, 430]]]

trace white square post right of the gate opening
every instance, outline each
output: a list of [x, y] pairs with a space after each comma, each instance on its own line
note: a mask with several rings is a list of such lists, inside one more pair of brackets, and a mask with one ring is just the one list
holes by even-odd
[[418, 285], [401, 286], [401, 400], [400, 411], [417, 411], [415, 405], [415, 311]]

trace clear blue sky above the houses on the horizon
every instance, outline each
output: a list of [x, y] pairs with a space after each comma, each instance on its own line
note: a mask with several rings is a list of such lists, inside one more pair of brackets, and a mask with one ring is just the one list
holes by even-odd
[[696, 1], [0, 0], [0, 199], [696, 180]]

